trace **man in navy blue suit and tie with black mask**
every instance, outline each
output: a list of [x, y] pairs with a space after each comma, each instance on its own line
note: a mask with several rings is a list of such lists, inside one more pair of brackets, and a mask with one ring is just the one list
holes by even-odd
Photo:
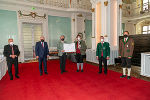
[[44, 64], [44, 73], [47, 73], [47, 58], [49, 57], [49, 49], [47, 42], [44, 42], [45, 38], [44, 36], [40, 37], [39, 42], [36, 43], [35, 46], [35, 53], [36, 53], [36, 58], [39, 60], [39, 70], [40, 70], [40, 75], [43, 75], [43, 70], [42, 70], [42, 62]]

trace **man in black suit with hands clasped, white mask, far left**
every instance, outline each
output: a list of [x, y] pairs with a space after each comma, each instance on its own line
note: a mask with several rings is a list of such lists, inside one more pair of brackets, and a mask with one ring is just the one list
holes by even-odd
[[12, 75], [12, 64], [15, 66], [15, 77], [19, 78], [18, 76], [18, 56], [20, 51], [17, 45], [13, 44], [13, 39], [8, 39], [8, 45], [4, 46], [4, 56], [6, 57], [7, 66], [8, 66], [8, 73], [10, 76], [10, 80], [13, 80]]

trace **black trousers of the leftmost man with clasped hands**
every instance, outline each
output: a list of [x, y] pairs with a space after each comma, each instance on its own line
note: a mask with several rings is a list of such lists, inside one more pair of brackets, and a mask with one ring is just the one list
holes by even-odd
[[18, 75], [18, 60], [7, 61], [8, 73], [9, 73], [10, 77], [13, 77], [13, 75], [12, 75], [12, 64], [14, 64], [14, 67], [15, 67], [15, 75]]

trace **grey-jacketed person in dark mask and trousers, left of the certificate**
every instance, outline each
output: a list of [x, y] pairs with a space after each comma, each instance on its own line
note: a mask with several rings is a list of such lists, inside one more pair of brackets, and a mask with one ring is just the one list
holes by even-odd
[[65, 65], [66, 65], [66, 58], [67, 58], [67, 55], [64, 51], [64, 43], [66, 43], [65, 41], [65, 36], [64, 35], [61, 35], [60, 36], [60, 41], [58, 42], [57, 44], [57, 49], [58, 49], [58, 56], [59, 56], [59, 59], [60, 59], [60, 70], [61, 70], [61, 74], [63, 72], [66, 72], [65, 70]]

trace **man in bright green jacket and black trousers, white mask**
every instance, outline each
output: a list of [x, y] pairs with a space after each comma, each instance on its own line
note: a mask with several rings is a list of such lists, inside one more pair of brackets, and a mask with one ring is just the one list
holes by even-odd
[[101, 42], [97, 44], [96, 58], [99, 60], [99, 74], [102, 73], [102, 62], [104, 63], [104, 73], [107, 74], [107, 60], [110, 57], [110, 46], [108, 42], [104, 42], [101, 36]]

